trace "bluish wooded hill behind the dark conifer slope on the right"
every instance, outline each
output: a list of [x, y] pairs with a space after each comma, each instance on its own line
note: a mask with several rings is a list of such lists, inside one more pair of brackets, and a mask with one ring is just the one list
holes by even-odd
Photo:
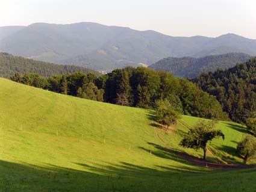
[[165, 70], [176, 76], [195, 78], [203, 72], [214, 72], [217, 69], [228, 69], [237, 63], [244, 63], [251, 58], [248, 54], [231, 53], [223, 55], [210, 55], [202, 58], [168, 57], [149, 66], [155, 70]]

